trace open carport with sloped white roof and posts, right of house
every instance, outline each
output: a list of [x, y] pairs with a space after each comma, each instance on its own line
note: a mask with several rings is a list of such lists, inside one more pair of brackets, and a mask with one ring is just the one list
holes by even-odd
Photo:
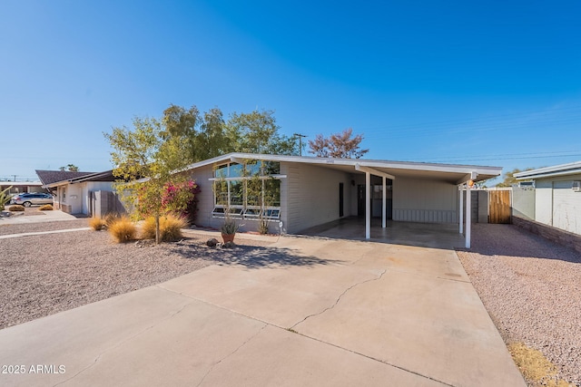
[[[346, 227], [354, 227], [357, 232], [360, 232], [361, 237], [365, 236], [365, 239], [393, 240], [393, 238], [389, 237], [389, 231], [393, 231], [399, 226], [403, 227], [404, 224], [407, 225], [404, 228], [409, 231], [415, 228], [413, 227], [414, 223], [439, 225], [440, 229], [444, 227], [447, 230], [453, 224], [456, 225], [459, 235], [465, 235], [464, 247], [466, 248], [470, 247], [471, 234], [471, 219], [469, 216], [465, 216], [465, 214], [470, 214], [471, 208], [469, 190], [473, 189], [478, 181], [497, 177], [502, 171], [501, 167], [472, 165], [387, 160], [306, 159], [308, 159], [306, 162], [320, 165], [324, 168], [350, 172], [353, 177], [351, 180], [353, 186], [358, 181], [361, 181], [364, 176], [364, 229], [361, 227], [360, 219], [358, 221], [339, 221], [343, 218], [321, 225], [323, 228], [333, 224], [343, 230]], [[377, 218], [373, 218], [371, 211], [372, 194], [378, 188], [371, 184], [372, 177], [381, 179], [379, 187], [381, 193], [380, 224]], [[396, 209], [391, 218], [388, 217], [387, 197], [389, 185], [394, 190], [393, 205]], [[399, 191], [396, 196], [397, 190]], [[417, 203], [409, 203], [406, 206], [404, 203], [410, 201], [409, 197], [416, 198], [415, 201], [421, 202], [423, 207], [417, 206]], [[442, 198], [448, 200], [448, 208], [439, 206], [438, 201], [442, 200]], [[398, 201], [396, 202], [396, 200]], [[412, 208], [406, 208], [410, 206]], [[382, 230], [373, 233], [372, 227], [380, 227]], [[424, 225], [423, 229], [428, 230], [431, 228], [435, 234], [438, 234], [438, 227]], [[312, 227], [300, 233], [310, 234], [316, 229], [317, 227]], [[350, 232], [352, 233], [353, 229]]]

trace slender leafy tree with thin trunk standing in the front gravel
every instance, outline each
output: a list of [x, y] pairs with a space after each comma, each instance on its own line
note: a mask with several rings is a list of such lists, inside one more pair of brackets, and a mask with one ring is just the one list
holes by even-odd
[[[113, 151], [113, 174], [118, 178], [115, 189], [127, 208], [135, 208], [134, 218], [155, 218], [155, 242], [160, 242], [159, 218], [166, 211], [162, 198], [169, 185], [180, 186], [187, 176], [174, 173], [187, 165], [183, 158], [187, 150], [180, 137], [167, 136], [171, 126], [151, 118], [133, 119], [133, 129], [113, 128], [103, 133]], [[172, 209], [185, 209], [192, 200], [192, 191], [175, 195]], [[133, 205], [135, 205], [133, 207]]]

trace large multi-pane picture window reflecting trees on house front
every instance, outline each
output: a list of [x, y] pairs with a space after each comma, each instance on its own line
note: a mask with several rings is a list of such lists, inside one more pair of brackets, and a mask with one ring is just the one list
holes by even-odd
[[281, 218], [281, 163], [248, 160], [214, 169], [214, 218]]

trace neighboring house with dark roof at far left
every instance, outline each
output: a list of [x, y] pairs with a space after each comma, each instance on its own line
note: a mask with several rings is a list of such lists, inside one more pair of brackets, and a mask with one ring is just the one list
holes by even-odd
[[43, 187], [54, 195], [54, 209], [69, 214], [101, 217], [108, 212], [124, 212], [113, 188], [113, 170], [71, 172], [36, 170]]

